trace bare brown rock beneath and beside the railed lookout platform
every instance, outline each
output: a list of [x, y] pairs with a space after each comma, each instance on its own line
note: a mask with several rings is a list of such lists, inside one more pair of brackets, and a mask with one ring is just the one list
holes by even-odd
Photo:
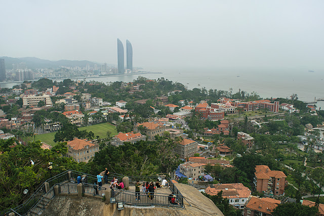
[[183, 184], [176, 184], [176, 187], [191, 206], [184, 200], [185, 208], [125, 206], [124, 210], [117, 210], [116, 204], [105, 204], [94, 197], [57, 196], [42, 215], [223, 215], [217, 206], [197, 189]]

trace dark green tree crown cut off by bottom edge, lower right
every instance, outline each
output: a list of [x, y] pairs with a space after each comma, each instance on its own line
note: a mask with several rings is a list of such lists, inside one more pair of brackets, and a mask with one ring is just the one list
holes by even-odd
[[313, 206], [309, 207], [307, 205], [302, 205], [300, 203], [286, 202], [284, 204], [279, 204], [273, 211], [274, 216], [286, 216], [286, 215], [296, 215], [296, 216], [315, 216], [317, 215], [318, 209]]

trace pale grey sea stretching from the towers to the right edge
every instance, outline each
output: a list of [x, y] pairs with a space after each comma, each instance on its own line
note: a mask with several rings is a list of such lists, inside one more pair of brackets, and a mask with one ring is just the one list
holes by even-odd
[[[255, 69], [255, 68], [219, 68], [219, 69], [165, 69], [156, 70], [163, 74], [145, 74], [143, 77], [158, 79], [164, 77], [179, 82], [189, 89], [203, 88], [225, 90], [238, 89], [248, 93], [257, 92], [261, 97], [290, 97], [297, 94], [299, 100], [313, 101], [314, 97], [324, 98], [324, 74], [308, 69]], [[131, 82], [138, 76], [106, 77], [93, 79], [100, 82]], [[91, 79], [88, 79], [91, 80]], [[198, 84], [200, 86], [198, 86]], [[324, 104], [322, 105], [324, 107]]]

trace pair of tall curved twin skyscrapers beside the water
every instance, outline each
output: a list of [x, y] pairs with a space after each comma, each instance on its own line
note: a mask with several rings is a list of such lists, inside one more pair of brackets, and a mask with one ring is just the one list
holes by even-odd
[[[124, 46], [119, 39], [117, 39], [117, 59], [118, 59], [118, 74], [125, 74], [124, 68]], [[133, 72], [133, 48], [131, 42], [126, 40], [126, 69]]]

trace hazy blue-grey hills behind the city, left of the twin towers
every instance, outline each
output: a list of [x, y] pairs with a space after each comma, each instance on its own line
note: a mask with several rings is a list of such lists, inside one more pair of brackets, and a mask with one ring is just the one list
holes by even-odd
[[[28, 69], [36, 69], [36, 68], [57, 68], [59, 66], [79, 66], [85, 67], [87, 64], [90, 67], [94, 67], [95, 64], [98, 65], [98, 68], [101, 67], [102, 63], [92, 62], [92, 61], [76, 61], [76, 60], [59, 60], [59, 61], [50, 61], [46, 59], [40, 59], [36, 57], [22, 57], [22, 58], [12, 58], [8, 56], [3, 56], [0, 58], [5, 59], [5, 65], [7, 69], [12, 69], [12, 64], [17, 64], [21, 62], [25, 62]], [[113, 64], [107, 64], [108, 66], [112, 66]]]

